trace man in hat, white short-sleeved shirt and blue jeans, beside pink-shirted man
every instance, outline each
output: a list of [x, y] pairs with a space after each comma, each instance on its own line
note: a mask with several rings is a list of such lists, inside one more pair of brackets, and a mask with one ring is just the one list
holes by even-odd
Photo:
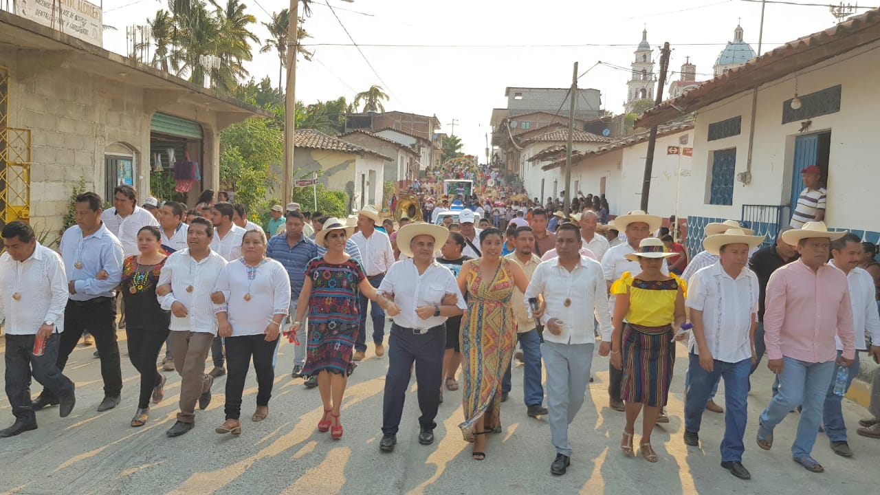
[[688, 344], [690, 382], [685, 388], [685, 443], [699, 445], [703, 410], [718, 380], [723, 379], [727, 413], [721, 465], [741, 479], [752, 477], [743, 466], [743, 437], [760, 294], [758, 276], [746, 265], [749, 249], [763, 241], [764, 236], [738, 228], [708, 236], [703, 247], [719, 260], [691, 277], [685, 303], [693, 322]]

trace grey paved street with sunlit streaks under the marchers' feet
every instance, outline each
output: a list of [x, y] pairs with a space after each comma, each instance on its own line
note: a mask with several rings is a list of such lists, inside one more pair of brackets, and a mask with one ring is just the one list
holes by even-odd
[[[368, 330], [369, 331], [369, 330]], [[124, 332], [120, 338], [124, 339]], [[124, 349], [121, 340], [121, 348]], [[791, 461], [790, 443], [796, 413], [776, 430], [771, 452], [754, 443], [757, 417], [770, 395], [770, 373], [762, 366], [753, 381], [744, 465], [752, 481], [732, 477], [718, 466], [723, 416], [707, 412], [700, 432], [702, 447], [686, 447], [682, 434], [682, 390], [686, 360], [678, 347], [676, 375], [668, 411], [669, 425], [659, 425], [654, 447], [660, 462], [620, 454], [623, 414], [607, 407], [607, 359], [594, 361], [595, 383], [587, 403], [571, 427], [575, 449], [564, 477], [553, 477], [550, 433], [543, 419], [526, 417], [522, 403], [522, 367], [514, 371], [514, 389], [502, 408], [504, 431], [490, 436], [488, 458], [471, 460], [471, 447], [461, 439], [461, 392], [445, 392], [437, 441], [424, 447], [416, 440], [418, 409], [414, 385], [407, 395], [398, 446], [392, 454], [378, 450], [381, 438], [382, 392], [387, 358], [371, 355], [349, 380], [342, 410], [345, 436], [330, 440], [319, 433], [318, 390], [306, 390], [290, 379], [292, 346], [279, 353], [275, 394], [266, 421], [243, 421], [238, 438], [220, 436], [225, 377], [216, 381], [214, 401], [196, 414], [196, 428], [178, 439], [165, 437], [177, 410], [180, 378], [166, 373], [165, 400], [151, 410], [150, 423], [128, 426], [136, 408], [136, 373], [123, 353], [125, 388], [120, 407], [96, 412], [102, 397], [99, 360], [94, 347], [77, 348], [68, 372], [77, 382], [77, 407], [59, 418], [57, 407], [40, 411], [40, 428], [0, 440], [0, 492], [4, 493], [835, 493], [859, 494], [875, 485], [872, 469], [880, 458], [880, 441], [855, 435], [856, 421], [866, 411], [845, 401], [850, 445], [855, 456], [832, 453], [819, 434], [813, 451], [825, 465], [824, 474], [810, 474]], [[39, 390], [34, 389], [35, 395]], [[253, 371], [245, 391], [243, 418], [253, 412], [256, 385]], [[723, 388], [718, 402], [723, 403]], [[11, 424], [9, 403], [0, 402], [2, 424]], [[636, 426], [636, 432], [641, 425]], [[636, 435], [636, 442], [639, 441]], [[636, 443], [637, 445], [637, 443]]]

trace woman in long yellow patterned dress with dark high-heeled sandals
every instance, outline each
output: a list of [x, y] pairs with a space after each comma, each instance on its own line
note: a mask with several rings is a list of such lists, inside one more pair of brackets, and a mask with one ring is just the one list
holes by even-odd
[[525, 272], [502, 257], [502, 233], [488, 228], [480, 233], [479, 259], [465, 262], [458, 274], [458, 288], [465, 294], [467, 311], [462, 317], [461, 357], [465, 422], [458, 425], [466, 441], [473, 442], [473, 459], [486, 458], [486, 432], [501, 432], [501, 382], [510, 366], [517, 343], [517, 319], [513, 315], [513, 289], [529, 286]]

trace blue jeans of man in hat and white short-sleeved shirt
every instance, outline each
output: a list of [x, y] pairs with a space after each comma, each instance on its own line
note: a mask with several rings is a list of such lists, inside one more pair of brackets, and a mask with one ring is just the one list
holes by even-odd
[[709, 394], [718, 388], [718, 380], [724, 379], [724, 438], [721, 441], [721, 460], [743, 461], [743, 436], [748, 419], [749, 370], [752, 358], [736, 363], [715, 359], [712, 371], [700, 366], [700, 356], [693, 352], [689, 357], [687, 373], [690, 383], [685, 387], [685, 431], [700, 432], [700, 422]]

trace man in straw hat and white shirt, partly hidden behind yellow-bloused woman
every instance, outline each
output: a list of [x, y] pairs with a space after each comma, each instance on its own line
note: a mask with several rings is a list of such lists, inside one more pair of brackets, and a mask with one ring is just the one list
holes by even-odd
[[[650, 237], [651, 233], [660, 228], [662, 223], [662, 218], [656, 215], [649, 215], [640, 210], [630, 211], [626, 215], [621, 215], [614, 219], [614, 228], [619, 232], [627, 233], [627, 242], [609, 248], [602, 257], [602, 273], [609, 291], [611, 290], [611, 284], [623, 276], [624, 272], [628, 271], [635, 274], [642, 271], [639, 262], [627, 260], [626, 255], [636, 253], [639, 250], [639, 243], [642, 242], [642, 239]], [[664, 274], [669, 273], [665, 260], [662, 271]], [[608, 298], [608, 309], [611, 314], [614, 314], [614, 299], [613, 294]], [[605, 357], [611, 352], [611, 332], [610, 325], [602, 331], [602, 344], [599, 344], [599, 356]], [[609, 364], [608, 374], [609, 406], [613, 410], [626, 410], [623, 400], [620, 398], [620, 382], [623, 380], [623, 371]], [[669, 417], [661, 414], [657, 422], [668, 423]]]

